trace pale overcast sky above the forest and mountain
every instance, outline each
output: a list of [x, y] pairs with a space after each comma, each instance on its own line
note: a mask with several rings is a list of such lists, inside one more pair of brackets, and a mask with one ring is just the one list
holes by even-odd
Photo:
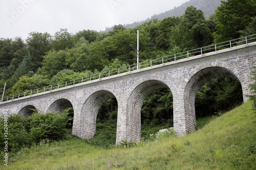
[[0, 38], [22, 37], [30, 32], [54, 35], [105, 30], [118, 24], [145, 20], [189, 0], [0, 0]]

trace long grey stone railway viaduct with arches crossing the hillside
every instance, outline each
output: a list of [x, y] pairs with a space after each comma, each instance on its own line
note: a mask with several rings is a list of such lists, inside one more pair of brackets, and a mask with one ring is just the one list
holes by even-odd
[[248, 85], [252, 83], [250, 68], [255, 66], [255, 60], [256, 42], [252, 42], [2, 102], [0, 114], [29, 116], [31, 108], [50, 112], [73, 107], [72, 133], [90, 139], [96, 132], [96, 117], [101, 105], [116, 98], [116, 142], [121, 139], [135, 141], [140, 139], [140, 111], [144, 99], [156, 89], [169, 88], [173, 93], [174, 129], [178, 135], [185, 135], [195, 131], [196, 94], [210, 79], [236, 79], [241, 83], [244, 101], [247, 101]]

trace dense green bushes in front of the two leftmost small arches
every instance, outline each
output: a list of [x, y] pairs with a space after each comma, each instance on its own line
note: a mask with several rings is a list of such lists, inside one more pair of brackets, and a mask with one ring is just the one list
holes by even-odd
[[[68, 110], [62, 113], [33, 113], [28, 118], [19, 114], [12, 114], [8, 118], [8, 150], [17, 151], [21, 147], [30, 147], [31, 144], [42, 140], [56, 140], [64, 136], [69, 127]], [[0, 125], [4, 127], [4, 117], [0, 118]], [[1, 136], [4, 129], [1, 128]], [[0, 151], [4, 148], [4, 139], [0, 139]]]

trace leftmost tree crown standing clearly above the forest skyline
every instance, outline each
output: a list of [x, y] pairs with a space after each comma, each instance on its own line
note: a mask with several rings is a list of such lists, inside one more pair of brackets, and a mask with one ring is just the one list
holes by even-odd
[[26, 39], [32, 61], [39, 67], [44, 56], [51, 49], [52, 36], [49, 33], [29, 33]]

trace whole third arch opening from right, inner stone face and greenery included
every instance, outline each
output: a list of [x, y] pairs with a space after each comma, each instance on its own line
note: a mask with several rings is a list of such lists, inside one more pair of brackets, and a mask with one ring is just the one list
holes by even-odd
[[[100, 90], [86, 100], [82, 107], [81, 133], [83, 139], [100, 140], [101, 147], [115, 144], [118, 102], [115, 95], [107, 90]], [[103, 132], [103, 133], [102, 133]]]

